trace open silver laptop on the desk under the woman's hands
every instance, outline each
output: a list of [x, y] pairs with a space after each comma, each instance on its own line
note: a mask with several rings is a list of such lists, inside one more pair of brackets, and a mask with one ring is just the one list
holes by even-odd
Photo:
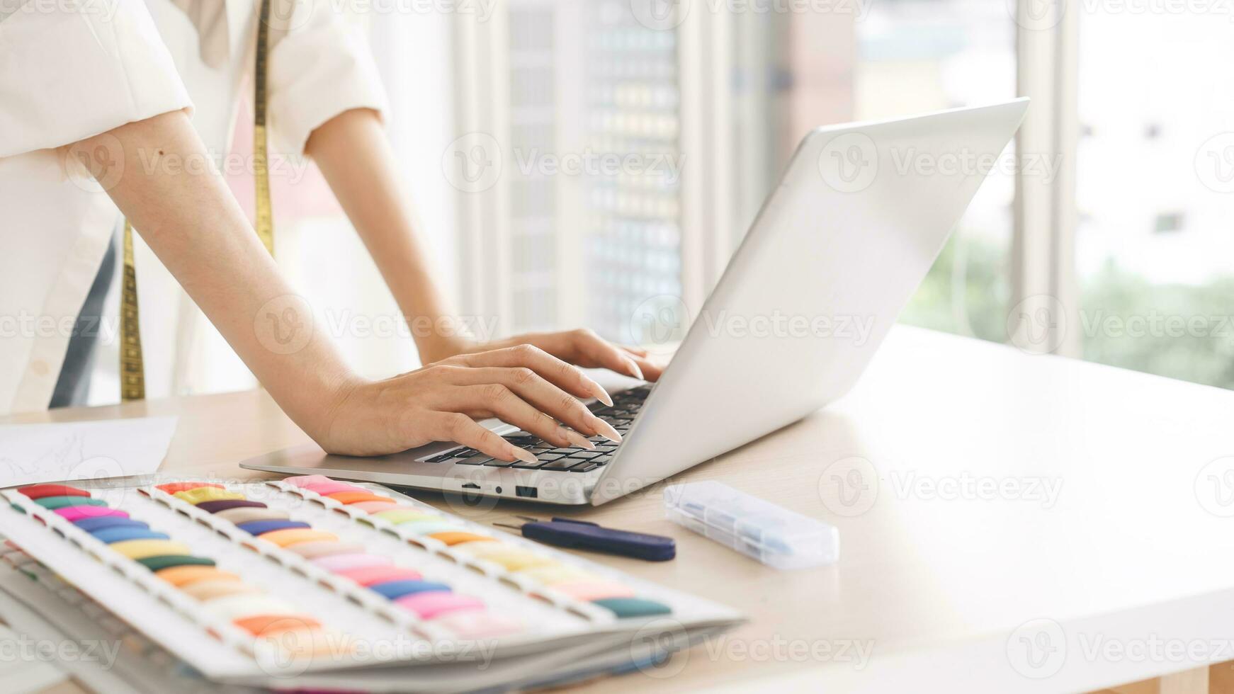
[[457, 444], [381, 457], [310, 445], [241, 467], [602, 504], [796, 422], [853, 387], [1027, 110], [1018, 99], [807, 134], [659, 382], [587, 403], [619, 445], [560, 449], [492, 422], [537, 463]]

